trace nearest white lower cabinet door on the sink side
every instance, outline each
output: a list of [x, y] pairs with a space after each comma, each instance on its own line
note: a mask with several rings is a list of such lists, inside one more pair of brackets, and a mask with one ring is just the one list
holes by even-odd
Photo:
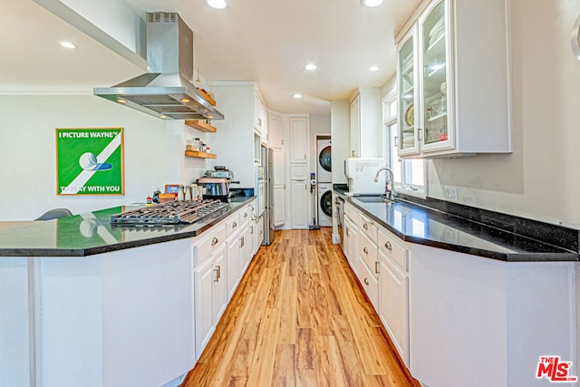
[[380, 253], [379, 315], [405, 365], [409, 365], [409, 276]]

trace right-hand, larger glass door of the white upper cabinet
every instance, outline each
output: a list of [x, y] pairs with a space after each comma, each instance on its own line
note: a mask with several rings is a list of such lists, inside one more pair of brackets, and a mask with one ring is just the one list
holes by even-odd
[[422, 151], [453, 148], [448, 121], [448, 1], [434, 3], [419, 21]]

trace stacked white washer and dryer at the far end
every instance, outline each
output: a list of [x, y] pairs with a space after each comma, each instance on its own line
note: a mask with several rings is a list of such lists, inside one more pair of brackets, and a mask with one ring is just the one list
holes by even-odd
[[331, 140], [316, 140], [316, 173], [318, 176], [318, 226], [333, 226], [333, 175]]

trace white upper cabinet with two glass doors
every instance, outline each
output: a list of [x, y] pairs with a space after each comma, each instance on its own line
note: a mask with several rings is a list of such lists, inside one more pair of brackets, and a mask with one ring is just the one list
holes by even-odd
[[511, 152], [506, 13], [435, 0], [414, 16], [397, 44], [399, 156]]

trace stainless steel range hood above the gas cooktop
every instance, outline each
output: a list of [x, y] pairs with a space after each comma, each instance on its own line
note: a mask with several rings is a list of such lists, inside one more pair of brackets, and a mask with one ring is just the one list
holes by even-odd
[[177, 13], [147, 14], [147, 71], [94, 95], [173, 120], [223, 120], [193, 80], [193, 33]]

